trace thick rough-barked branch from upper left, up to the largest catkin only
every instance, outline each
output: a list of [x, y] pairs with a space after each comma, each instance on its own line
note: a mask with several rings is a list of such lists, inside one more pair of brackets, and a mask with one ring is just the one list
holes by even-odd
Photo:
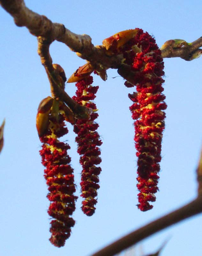
[[104, 47], [95, 47], [89, 35], [77, 35], [63, 24], [53, 23], [47, 17], [28, 9], [23, 0], [0, 0], [0, 4], [11, 14], [17, 26], [27, 27], [32, 35], [44, 37], [51, 42], [57, 40], [65, 43], [72, 51], [77, 52], [80, 58], [86, 59], [93, 65], [101, 63], [108, 69], [116, 68], [120, 64], [119, 58], [105, 55]]

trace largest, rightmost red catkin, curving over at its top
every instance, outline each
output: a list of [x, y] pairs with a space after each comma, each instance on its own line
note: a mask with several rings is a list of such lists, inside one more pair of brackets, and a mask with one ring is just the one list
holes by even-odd
[[136, 120], [135, 147], [138, 157], [138, 208], [147, 211], [153, 208], [150, 202], [154, 202], [158, 187], [158, 173], [161, 161], [162, 132], [165, 128], [165, 96], [162, 83], [164, 80], [164, 63], [161, 58], [155, 39], [147, 32], [139, 29], [137, 35], [120, 50], [123, 53], [124, 64], [130, 65], [132, 78], [124, 84], [127, 87], [136, 85], [137, 92], [129, 94], [134, 102], [130, 110], [132, 118]]

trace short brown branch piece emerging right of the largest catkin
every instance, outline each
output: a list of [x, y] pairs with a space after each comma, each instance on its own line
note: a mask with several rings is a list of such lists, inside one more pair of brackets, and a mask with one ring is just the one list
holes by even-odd
[[190, 61], [197, 58], [194, 56], [194, 53], [195, 50], [200, 47], [202, 47], [202, 37], [192, 42], [192, 45], [183, 46], [181, 48], [173, 48], [172, 46], [168, 45], [165, 49], [161, 50], [161, 56], [162, 58], [180, 57], [184, 60]]

